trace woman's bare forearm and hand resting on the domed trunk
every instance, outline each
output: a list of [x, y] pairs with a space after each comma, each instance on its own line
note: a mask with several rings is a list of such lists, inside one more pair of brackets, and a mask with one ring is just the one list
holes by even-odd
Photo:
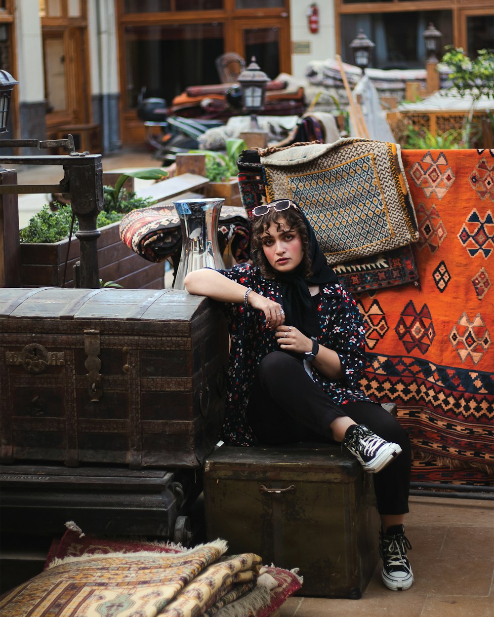
[[[207, 296], [212, 300], [220, 302], [232, 302], [233, 304], [243, 304], [247, 287], [236, 281], [232, 281], [227, 276], [222, 275], [216, 270], [203, 268], [189, 272], [185, 277], [185, 289], [195, 296]], [[247, 302], [253, 309], [260, 310], [266, 316], [266, 326], [276, 328], [285, 321], [282, 313], [282, 305], [269, 298], [249, 291]]]

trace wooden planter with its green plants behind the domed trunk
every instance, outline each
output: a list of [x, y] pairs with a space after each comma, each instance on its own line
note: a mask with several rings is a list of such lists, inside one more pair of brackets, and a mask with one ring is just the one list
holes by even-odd
[[[138, 170], [119, 176], [114, 187], [104, 187], [103, 210], [98, 215], [99, 276], [128, 289], [160, 289], [164, 286], [164, 263], [151, 263], [131, 251], [120, 240], [120, 219], [130, 210], [146, 207], [133, 191], [124, 189], [129, 177], [160, 180], [167, 176], [161, 169]], [[71, 233], [72, 228], [72, 233]], [[77, 219], [70, 205], [45, 205], [27, 227], [20, 230], [20, 278], [23, 287], [74, 287], [74, 266], [79, 260], [79, 241], [73, 235]]]

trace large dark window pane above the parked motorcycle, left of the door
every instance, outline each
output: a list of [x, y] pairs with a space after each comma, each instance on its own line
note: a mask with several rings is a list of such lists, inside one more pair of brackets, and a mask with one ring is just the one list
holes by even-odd
[[223, 39], [221, 23], [126, 27], [127, 107], [137, 106], [142, 88], [170, 106], [187, 86], [218, 83], [214, 60], [224, 52]]

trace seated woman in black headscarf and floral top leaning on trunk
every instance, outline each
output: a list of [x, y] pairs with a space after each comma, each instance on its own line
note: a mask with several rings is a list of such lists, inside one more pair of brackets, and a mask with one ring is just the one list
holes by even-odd
[[404, 536], [411, 451], [398, 421], [361, 391], [365, 331], [353, 298], [327, 265], [295, 202], [253, 209], [256, 267], [189, 273], [191, 294], [224, 303], [231, 349], [222, 439], [229, 444], [336, 441], [374, 486], [382, 579], [408, 589]]

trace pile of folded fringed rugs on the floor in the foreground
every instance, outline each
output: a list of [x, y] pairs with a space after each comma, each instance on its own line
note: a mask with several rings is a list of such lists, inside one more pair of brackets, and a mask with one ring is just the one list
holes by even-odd
[[183, 549], [67, 528], [44, 571], [1, 598], [2, 615], [267, 617], [302, 583], [254, 553], [225, 555], [225, 540]]

